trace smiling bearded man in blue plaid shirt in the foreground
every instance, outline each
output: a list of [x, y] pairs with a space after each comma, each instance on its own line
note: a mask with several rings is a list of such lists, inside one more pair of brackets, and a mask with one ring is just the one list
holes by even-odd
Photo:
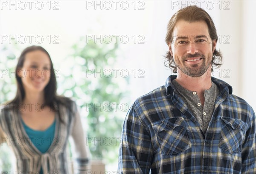
[[211, 17], [188, 6], [167, 30], [166, 59], [177, 76], [128, 111], [120, 173], [256, 174], [255, 113], [230, 85], [211, 77], [222, 58]]

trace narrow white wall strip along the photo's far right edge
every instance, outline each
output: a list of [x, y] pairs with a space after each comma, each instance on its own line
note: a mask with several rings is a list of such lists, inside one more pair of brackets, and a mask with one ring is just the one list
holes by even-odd
[[253, 107], [256, 111], [256, 14], [255, 1], [245, 1], [241, 6], [242, 21], [241, 21], [241, 96]]

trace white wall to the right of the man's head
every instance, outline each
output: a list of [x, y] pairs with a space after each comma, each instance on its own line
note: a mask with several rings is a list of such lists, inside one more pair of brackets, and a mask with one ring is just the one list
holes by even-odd
[[[233, 94], [242, 97], [254, 109], [255, 101], [255, 1], [231, 1], [230, 10], [221, 11], [219, 33], [228, 34], [229, 44], [221, 44], [228, 78], [221, 79], [233, 86]], [[227, 39], [227, 38], [226, 38]], [[224, 39], [225, 40], [225, 39]], [[219, 74], [216, 74], [219, 75]]]

